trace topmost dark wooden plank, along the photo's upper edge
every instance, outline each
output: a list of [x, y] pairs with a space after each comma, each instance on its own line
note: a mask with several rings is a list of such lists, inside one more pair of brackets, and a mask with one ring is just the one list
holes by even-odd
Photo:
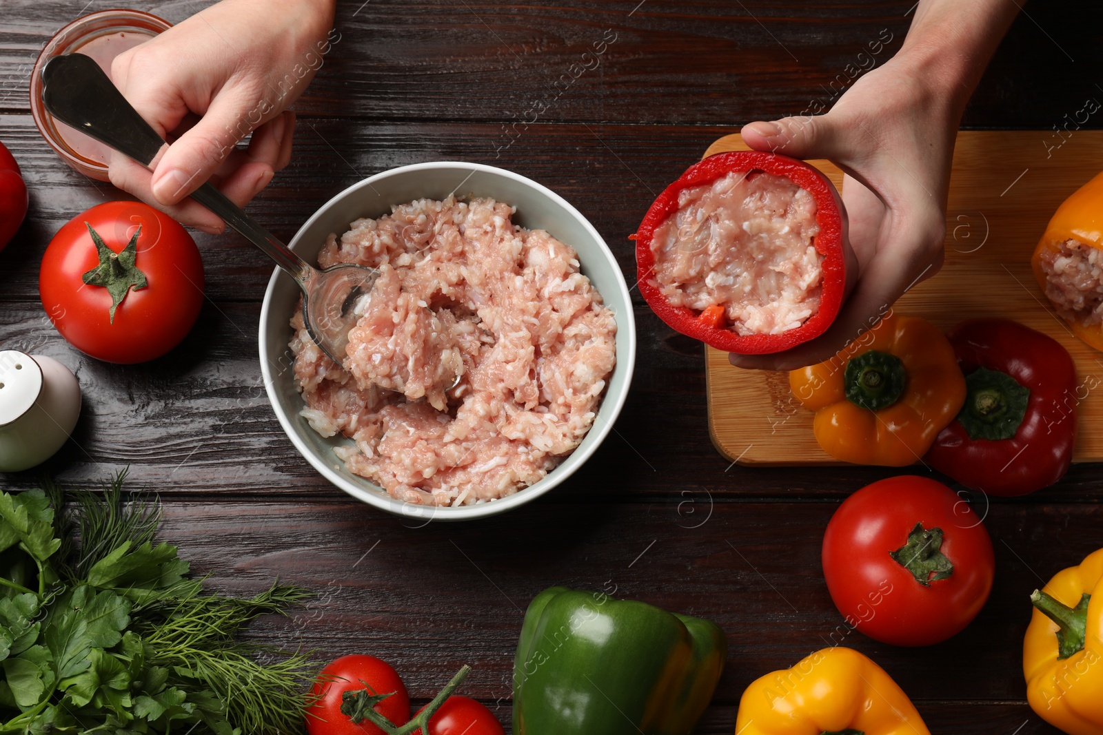
[[[180, 22], [208, 1], [135, 4]], [[912, 6], [349, 0], [339, 6], [340, 40], [298, 108], [367, 120], [499, 123], [536, 115], [555, 122], [732, 125], [795, 115], [815, 100], [829, 105], [858, 68], [887, 61], [907, 33]], [[0, 110], [28, 109], [35, 57], [77, 10], [6, 0]], [[1027, 12], [966, 125], [1049, 129], [1103, 94], [1092, 72], [1103, 62], [1093, 35], [1103, 22], [1097, 3], [1034, 3]], [[597, 57], [583, 55], [609, 39], [615, 40], [599, 45]]]

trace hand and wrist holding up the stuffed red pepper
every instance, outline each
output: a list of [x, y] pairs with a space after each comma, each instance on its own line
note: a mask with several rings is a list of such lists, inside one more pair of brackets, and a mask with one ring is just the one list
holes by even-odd
[[939, 271], [957, 126], [1015, 10], [1004, 0], [977, 0], [967, 10], [955, 0], [924, 0], [900, 52], [826, 115], [742, 129], [752, 149], [828, 159], [845, 172], [858, 279], [822, 336], [777, 355], [731, 355], [732, 365], [788, 370], [823, 361]]

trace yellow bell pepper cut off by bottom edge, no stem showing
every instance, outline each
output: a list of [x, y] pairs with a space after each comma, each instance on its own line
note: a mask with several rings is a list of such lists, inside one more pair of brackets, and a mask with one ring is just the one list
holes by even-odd
[[930, 735], [903, 690], [852, 648], [825, 648], [756, 680], [738, 735]]

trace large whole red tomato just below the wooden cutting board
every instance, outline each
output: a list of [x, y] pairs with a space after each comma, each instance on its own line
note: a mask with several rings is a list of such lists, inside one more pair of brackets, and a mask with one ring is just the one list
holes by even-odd
[[965, 500], [942, 483], [901, 476], [867, 485], [838, 507], [824, 533], [823, 566], [847, 626], [886, 644], [930, 646], [984, 607], [995, 559]]

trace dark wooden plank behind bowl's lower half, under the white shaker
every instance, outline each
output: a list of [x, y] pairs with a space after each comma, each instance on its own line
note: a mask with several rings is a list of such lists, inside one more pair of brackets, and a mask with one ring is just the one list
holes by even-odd
[[[257, 355], [259, 313], [251, 302], [207, 302], [180, 347], [152, 363], [124, 366], [72, 348], [38, 302], [0, 301], [0, 347], [60, 359], [84, 390], [74, 439], [45, 468], [83, 487], [129, 464], [168, 494], [333, 493], [296, 453], [268, 403]], [[708, 437], [699, 347], [675, 338], [646, 306], [635, 316], [636, 374], [615, 431], [554, 497], [583, 504], [657, 497], [692, 523], [715, 497], [837, 498], [881, 477], [927, 473], [922, 466], [731, 466]], [[38, 472], [11, 478], [25, 484]], [[1097, 502], [1101, 495], [1097, 466], [1073, 465], [1061, 483], [1022, 502]], [[983, 497], [976, 501], [988, 505]]]

